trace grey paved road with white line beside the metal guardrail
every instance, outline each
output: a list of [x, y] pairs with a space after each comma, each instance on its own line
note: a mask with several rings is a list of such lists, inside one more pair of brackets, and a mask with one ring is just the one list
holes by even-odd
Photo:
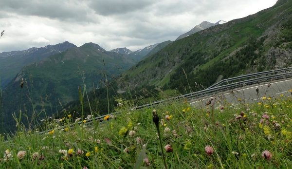
[[[258, 89], [258, 92], [256, 92], [256, 88]], [[220, 92], [218, 94], [213, 94], [212, 96], [200, 98], [197, 100], [190, 100], [189, 103], [197, 108], [206, 108], [206, 103], [210, 99], [216, 98], [216, 105], [223, 105], [224, 100], [226, 100], [228, 103], [238, 104], [238, 99], [240, 100], [240, 102], [249, 104], [260, 102], [263, 97], [266, 97], [268, 99], [269, 97], [280, 96], [280, 94], [284, 94], [283, 96], [288, 97], [292, 95], [292, 93], [290, 92], [291, 89], [292, 79], [282, 79], [279, 81], [273, 81], [271, 83], [256, 84], [239, 89]]]

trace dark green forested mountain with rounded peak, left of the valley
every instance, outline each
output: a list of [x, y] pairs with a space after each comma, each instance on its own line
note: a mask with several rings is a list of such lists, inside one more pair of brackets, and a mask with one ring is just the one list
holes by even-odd
[[[27, 114], [29, 119], [33, 113], [42, 110], [47, 110], [47, 116], [52, 115], [62, 110], [60, 104], [65, 105], [79, 98], [79, 86], [82, 94], [84, 84], [87, 91], [107, 86], [108, 81], [116, 78], [115, 75], [132, 65], [134, 62], [127, 56], [107, 52], [94, 43], [72, 47], [28, 64], [3, 91], [4, 126], [7, 126], [6, 129], [15, 126], [15, 121], [8, 119], [11, 119], [13, 112], [19, 114], [19, 110]], [[22, 78], [24, 85], [21, 89], [19, 84]], [[44, 112], [41, 114], [43, 116]]]

